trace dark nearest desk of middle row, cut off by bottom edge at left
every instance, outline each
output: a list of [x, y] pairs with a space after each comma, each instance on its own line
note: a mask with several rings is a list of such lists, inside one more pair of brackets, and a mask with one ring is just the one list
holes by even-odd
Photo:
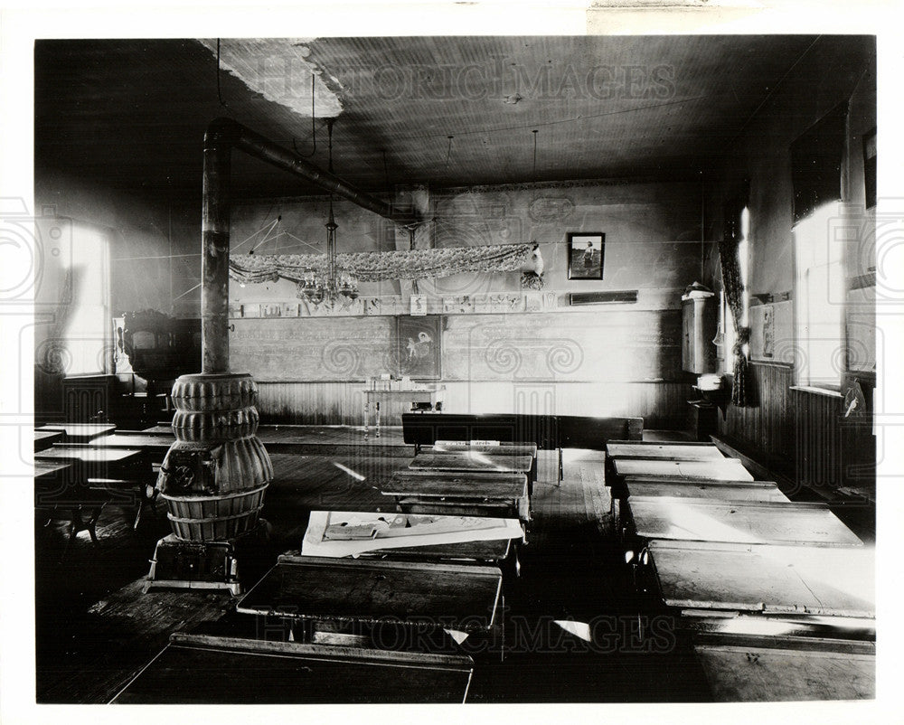
[[461, 654], [175, 634], [112, 702], [464, 702], [472, 670]]

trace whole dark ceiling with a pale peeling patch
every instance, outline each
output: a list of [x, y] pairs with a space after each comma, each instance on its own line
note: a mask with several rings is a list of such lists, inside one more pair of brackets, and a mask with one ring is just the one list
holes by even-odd
[[[235, 118], [364, 190], [673, 178], [718, 163], [811, 36], [39, 41], [36, 174], [196, 199]], [[856, 40], [836, 37], [843, 69]], [[314, 88], [314, 118], [311, 92]], [[534, 133], [534, 131], [536, 133]], [[451, 138], [450, 138], [451, 137]], [[235, 193], [318, 193], [235, 154]]]

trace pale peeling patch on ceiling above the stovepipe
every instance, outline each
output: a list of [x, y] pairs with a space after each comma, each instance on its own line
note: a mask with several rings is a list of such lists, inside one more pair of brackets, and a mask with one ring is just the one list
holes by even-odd
[[[311, 80], [314, 80], [314, 117], [335, 118], [342, 102], [324, 81], [323, 71], [307, 61], [313, 38], [224, 38], [220, 41], [220, 65], [265, 99], [311, 118]], [[216, 39], [202, 45], [217, 54]], [[332, 76], [328, 81], [337, 84]]]

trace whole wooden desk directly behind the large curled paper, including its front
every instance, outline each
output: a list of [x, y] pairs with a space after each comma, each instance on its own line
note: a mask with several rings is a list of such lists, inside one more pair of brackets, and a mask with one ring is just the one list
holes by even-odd
[[406, 513], [531, 519], [527, 476], [493, 471], [396, 471], [381, 486]]

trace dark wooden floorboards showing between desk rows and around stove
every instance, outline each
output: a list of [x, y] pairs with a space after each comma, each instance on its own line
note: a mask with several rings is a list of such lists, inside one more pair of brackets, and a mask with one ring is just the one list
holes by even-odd
[[[392, 448], [389, 450], [391, 451]], [[410, 457], [381, 447], [349, 455], [276, 453], [276, 477], [264, 516], [269, 541], [240, 560], [256, 581], [278, 553], [298, 548], [314, 509], [391, 510], [375, 486]], [[668, 623], [652, 641], [636, 636], [639, 619], [659, 613], [629, 595], [627, 571], [611, 532], [602, 454], [567, 451], [565, 480], [555, 485], [555, 452], [541, 451], [534, 521], [522, 550], [522, 577], [504, 582], [506, 654], [476, 653], [468, 700], [699, 701], [702, 671]], [[137, 532], [127, 507], [108, 507], [98, 533], [87, 533], [60, 562], [61, 525], [38, 528], [36, 545], [37, 700], [104, 702], [165, 645], [170, 632], [227, 634], [246, 616], [220, 593], [140, 593], [155, 541], [169, 532], [162, 510]], [[590, 623], [604, 646], [588, 647], [555, 620]], [[253, 633], [252, 633], [253, 634]]]

